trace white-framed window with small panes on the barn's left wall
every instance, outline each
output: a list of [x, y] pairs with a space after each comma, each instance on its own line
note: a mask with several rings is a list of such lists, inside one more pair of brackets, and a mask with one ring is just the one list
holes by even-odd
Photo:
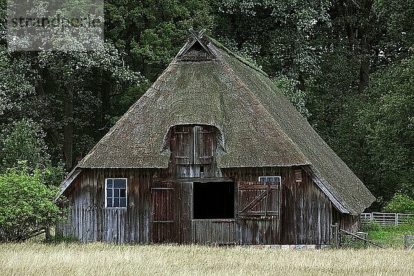
[[126, 208], [126, 178], [105, 179], [107, 208]]

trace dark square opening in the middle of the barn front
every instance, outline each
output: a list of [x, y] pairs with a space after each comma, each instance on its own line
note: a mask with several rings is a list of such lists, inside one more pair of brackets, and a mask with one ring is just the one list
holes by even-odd
[[195, 182], [193, 190], [193, 219], [235, 218], [233, 182]]

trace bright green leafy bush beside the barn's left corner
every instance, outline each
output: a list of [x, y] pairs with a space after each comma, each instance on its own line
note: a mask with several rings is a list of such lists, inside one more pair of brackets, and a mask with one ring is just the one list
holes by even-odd
[[61, 210], [57, 188], [44, 183], [39, 170], [8, 169], [0, 175], [0, 242], [21, 242], [40, 235]]

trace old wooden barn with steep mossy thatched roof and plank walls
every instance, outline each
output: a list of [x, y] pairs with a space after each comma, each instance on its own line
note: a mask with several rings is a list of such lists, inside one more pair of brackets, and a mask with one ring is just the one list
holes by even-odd
[[61, 234], [139, 244], [330, 244], [374, 200], [266, 73], [202, 31], [61, 195]]

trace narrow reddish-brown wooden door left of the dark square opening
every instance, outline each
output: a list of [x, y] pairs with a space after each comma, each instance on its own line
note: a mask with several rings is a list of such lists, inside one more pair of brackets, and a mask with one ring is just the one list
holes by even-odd
[[175, 190], [171, 184], [151, 188], [151, 242], [175, 243]]

